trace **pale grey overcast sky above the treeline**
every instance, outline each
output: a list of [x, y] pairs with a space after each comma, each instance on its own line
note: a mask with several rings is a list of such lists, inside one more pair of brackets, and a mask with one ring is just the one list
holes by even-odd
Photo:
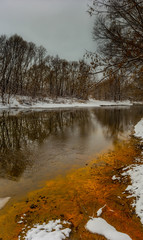
[[17, 33], [49, 55], [79, 60], [95, 49], [91, 0], [0, 0], [0, 35]]

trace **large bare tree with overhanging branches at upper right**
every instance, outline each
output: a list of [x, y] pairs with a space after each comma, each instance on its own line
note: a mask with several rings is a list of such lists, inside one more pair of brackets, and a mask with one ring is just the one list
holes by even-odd
[[[93, 0], [88, 12], [95, 17], [93, 39], [99, 52], [98, 58], [91, 53], [93, 66], [105, 72], [103, 79], [122, 70], [131, 81], [142, 78], [143, 1]], [[140, 81], [138, 86], [142, 88]]]

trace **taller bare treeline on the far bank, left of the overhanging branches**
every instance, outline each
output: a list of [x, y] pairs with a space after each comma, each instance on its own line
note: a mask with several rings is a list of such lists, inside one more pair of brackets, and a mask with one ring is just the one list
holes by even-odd
[[87, 99], [90, 67], [47, 55], [43, 46], [18, 35], [0, 37], [0, 95], [2, 102], [14, 95], [32, 98], [76, 97]]

